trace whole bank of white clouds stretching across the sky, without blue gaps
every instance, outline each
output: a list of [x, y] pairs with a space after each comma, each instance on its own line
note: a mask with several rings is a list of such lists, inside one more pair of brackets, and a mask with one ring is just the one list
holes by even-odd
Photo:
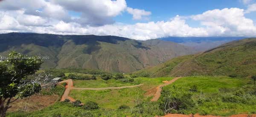
[[[22, 2], [20, 2], [22, 1]], [[72, 2], [71, 2], [72, 1]], [[184, 17], [135, 24], [114, 22], [127, 11], [134, 20], [151, 12], [129, 8], [125, 0], [4, 0], [0, 4], [0, 33], [35, 32], [54, 34], [115, 35], [131, 39], [166, 36], [256, 36], [253, 20], [240, 8], [205, 11], [190, 17], [202, 26], [191, 27]], [[80, 13], [70, 16], [69, 11]], [[250, 10], [253, 11], [253, 10]]]

